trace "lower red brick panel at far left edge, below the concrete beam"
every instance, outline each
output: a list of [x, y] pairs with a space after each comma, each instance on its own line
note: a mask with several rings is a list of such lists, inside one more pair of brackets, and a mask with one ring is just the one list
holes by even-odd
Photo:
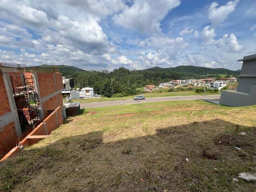
[[17, 142], [14, 122], [0, 128], [0, 158], [15, 147]]

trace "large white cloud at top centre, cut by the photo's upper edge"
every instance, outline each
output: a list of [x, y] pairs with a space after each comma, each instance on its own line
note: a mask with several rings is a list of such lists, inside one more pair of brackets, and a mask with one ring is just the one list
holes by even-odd
[[160, 21], [176, 6], [179, 0], [136, 0], [132, 6], [114, 16], [114, 22], [143, 34], [159, 34]]

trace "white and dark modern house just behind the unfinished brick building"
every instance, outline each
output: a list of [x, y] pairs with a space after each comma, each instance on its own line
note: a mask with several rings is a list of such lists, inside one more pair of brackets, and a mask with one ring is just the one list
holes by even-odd
[[63, 83], [62, 96], [68, 95], [68, 100], [79, 99], [79, 91], [74, 90], [74, 80], [72, 78], [67, 79], [64, 76], [62, 76], [62, 83]]

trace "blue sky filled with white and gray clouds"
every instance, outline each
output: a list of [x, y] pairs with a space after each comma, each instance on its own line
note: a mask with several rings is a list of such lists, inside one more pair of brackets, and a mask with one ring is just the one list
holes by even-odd
[[85, 70], [238, 70], [256, 0], [0, 0], [0, 62]]

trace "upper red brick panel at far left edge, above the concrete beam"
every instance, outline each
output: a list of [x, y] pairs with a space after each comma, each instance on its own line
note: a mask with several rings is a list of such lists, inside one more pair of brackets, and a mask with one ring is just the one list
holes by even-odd
[[6, 88], [4, 86], [4, 79], [0, 75], [0, 116], [11, 111]]

